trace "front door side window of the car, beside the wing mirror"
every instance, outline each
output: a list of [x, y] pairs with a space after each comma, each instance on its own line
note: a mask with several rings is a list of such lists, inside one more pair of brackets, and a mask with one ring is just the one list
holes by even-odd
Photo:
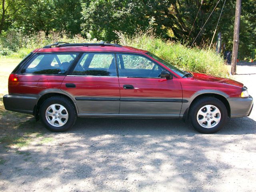
[[164, 70], [148, 58], [135, 54], [117, 54], [120, 77], [157, 78]]

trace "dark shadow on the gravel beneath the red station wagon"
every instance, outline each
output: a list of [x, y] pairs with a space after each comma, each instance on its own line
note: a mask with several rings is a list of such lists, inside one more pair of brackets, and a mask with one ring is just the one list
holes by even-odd
[[[91, 132], [111, 130], [129, 131], [133, 134], [200, 134], [181, 119], [119, 119], [119, 118], [78, 118], [74, 127], [68, 132]], [[228, 118], [227, 124], [215, 134], [256, 134], [256, 121], [249, 117]]]

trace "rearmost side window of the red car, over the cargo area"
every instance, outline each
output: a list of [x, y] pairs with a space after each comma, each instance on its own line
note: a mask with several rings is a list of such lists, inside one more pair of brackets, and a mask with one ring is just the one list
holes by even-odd
[[22, 74], [66, 74], [78, 53], [36, 54], [21, 70]]

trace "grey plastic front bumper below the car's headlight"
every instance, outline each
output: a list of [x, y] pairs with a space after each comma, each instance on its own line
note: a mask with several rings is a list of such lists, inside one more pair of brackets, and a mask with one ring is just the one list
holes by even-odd
[[252, 112], [253, 99], [248, 98], [227, 98], [230, 106], [230, 117], [246, 117]]

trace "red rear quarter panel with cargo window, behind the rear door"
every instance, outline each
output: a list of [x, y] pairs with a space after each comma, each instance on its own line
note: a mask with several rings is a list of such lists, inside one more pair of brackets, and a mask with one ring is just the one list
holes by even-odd
[[35, 54], [18, 72], [18, 93], [38, 94], [46, 88], [60, 88], [78, 53]]

